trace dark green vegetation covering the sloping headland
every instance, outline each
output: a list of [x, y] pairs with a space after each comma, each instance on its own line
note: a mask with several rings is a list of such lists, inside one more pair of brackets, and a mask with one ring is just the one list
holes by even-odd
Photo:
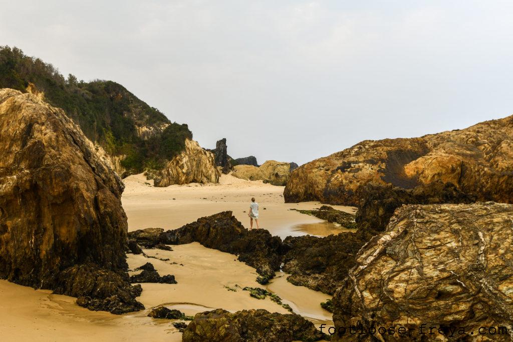
[[[186, 124], [171, 123], [158, 109], [112, 81], [65, 78], [51, 64], [18, 48], [0, 47], [0, 88], [43, 92], [45, 101], [62, 108], [85, 135], [110, 155], [125, 155], [126, 174], [160, 169], [192, 138]], [[144, 135], [137, 129], [149, 130]]]

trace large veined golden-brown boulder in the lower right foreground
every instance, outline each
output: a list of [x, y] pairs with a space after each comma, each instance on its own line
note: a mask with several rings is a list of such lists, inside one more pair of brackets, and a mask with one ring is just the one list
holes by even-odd
[[[383, 336], [384, 340], [509, 341], [513, 334], [512, 222], [512, 205], [491, 202], [397, 209], [386, 231], [359, 251], [357, 265], [334, 296], [336, 328], [415, 329], [410, 336], [396, 333]], [[422, 324], [441, 327], [445, 336], [420, 335]], [[465, 335], [459, 335], [459, 327], [465, 328]], [[481, 327], [507, 327], [509, 333], [479, 335]], [[428, 332], [425, 327], [424, 332]], [[358, 337], [376, 340], [369, 335]], [[347, 333], [332, 340], [357, 337]]]

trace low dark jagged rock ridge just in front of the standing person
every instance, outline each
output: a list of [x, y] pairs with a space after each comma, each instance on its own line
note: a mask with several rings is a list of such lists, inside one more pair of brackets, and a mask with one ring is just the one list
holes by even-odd
[[175, 230], [148, 228], [130, 232], [129, 235], [143, 246], [199, 242], [208, 248], [239, 255], [239, 260], [268, 278], [272, 278], [274, 272], [280, 269], [280, 237], [272, 236], [264, 229], [247, 230], [231, 211], [201, 217]]

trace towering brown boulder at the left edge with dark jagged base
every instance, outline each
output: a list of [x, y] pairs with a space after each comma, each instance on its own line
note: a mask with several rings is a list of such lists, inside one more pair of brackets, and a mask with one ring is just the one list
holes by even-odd
[[93, 310], [142, 308], [126, 273], [123, 189], [63, 110], [0, 89], [0, 277]]

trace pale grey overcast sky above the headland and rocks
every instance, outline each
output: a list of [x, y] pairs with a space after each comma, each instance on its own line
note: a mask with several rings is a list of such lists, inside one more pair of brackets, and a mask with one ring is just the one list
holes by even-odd
[[513, 2], [0, 0], [0, 45], [122, 84], [234, 158], [513, 114]]

